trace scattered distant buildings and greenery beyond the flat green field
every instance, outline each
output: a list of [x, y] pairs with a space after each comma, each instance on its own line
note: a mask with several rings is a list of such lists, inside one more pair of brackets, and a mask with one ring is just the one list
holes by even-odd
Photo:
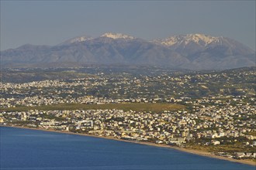
[[0, 82], [0, 108], [67, 103], [182, 103], [203, 97], [253, 97], [255, 75], [254, 71], [157, 76], [97, 73], [69, 80]]

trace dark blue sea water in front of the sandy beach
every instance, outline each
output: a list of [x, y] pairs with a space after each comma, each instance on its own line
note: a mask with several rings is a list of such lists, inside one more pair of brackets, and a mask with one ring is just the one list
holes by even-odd
[[0, 169], [255, 170], [170, 148], [19, 128], [0, 130]]

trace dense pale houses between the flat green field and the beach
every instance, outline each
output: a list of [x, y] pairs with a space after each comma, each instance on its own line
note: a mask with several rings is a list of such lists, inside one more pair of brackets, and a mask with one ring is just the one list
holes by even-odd
[[[184, 147], [195, 145], [222, 145], [246, 138], [243, 145], [256, 147], [256, 107], [251, 105], [213, 105], [194, 111], [165, 110], [162, 113], [133, 110], [29, 110], [2, 111], [0, 122], [30, 128], [72, 131], [132, 141], [150, 141], [157, 144]], [[253, 134], [253, 133], [252, 133]], [[237, 153], [225, 153], [234, 158], [247, 158]], [[255, 158], [255, 153], [251, 152]]]

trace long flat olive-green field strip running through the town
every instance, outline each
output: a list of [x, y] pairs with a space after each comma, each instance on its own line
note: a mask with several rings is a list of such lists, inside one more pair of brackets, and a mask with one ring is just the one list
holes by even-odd
[[181, 104], [140, 104], [140, 103], [126, 103], [126, 104], [55, 104], [38, 107], [10, 107], [1, 109], [5, 111], [26, 111], [26, 110], [97, 110], [97, 109], [117, 109], [117, 110], [134, 110], [134, 111], [153, 111], [161, 112], [164, 110], [179, 110], [185, 109]]

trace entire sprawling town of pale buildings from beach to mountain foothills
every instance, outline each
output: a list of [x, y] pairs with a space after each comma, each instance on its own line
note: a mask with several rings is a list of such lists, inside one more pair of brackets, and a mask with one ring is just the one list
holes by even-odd
[[[0, 124], [147, 141], [255, 161], [255, 75], [254, 68], [148, 75], [96, 70], [74, 79], [2, 82]], [[133, 104], [175, 107], [140, 110]], [[70, 109], [61, 107], [65, 105]]]

